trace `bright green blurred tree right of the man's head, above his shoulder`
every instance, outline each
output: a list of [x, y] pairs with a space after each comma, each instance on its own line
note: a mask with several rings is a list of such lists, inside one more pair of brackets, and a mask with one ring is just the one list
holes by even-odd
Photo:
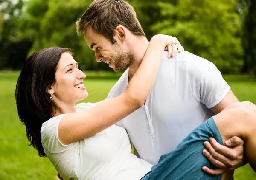
[[187, 51], [212, 61], [222, 73], [239, 73], [243, 51], [236, 5], [236, 0], [160, 3], [164, 20], [152, 29], [177, 37]]

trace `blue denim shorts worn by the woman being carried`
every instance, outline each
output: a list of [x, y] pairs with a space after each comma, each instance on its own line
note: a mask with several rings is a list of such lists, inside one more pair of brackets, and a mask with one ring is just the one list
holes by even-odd
[[213, 117], [193, 130], [174, 151], [163, 154], [141, 180], [221, 180], [221, 175], [212, 176], [202, 170], [203, 166], [216, 169], [202, 154], [203, 143], [210, 137], [223, 145]]

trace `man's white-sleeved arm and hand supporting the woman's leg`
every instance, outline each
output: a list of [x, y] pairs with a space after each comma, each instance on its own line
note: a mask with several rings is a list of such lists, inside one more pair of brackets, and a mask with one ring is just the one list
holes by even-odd
[[[198, 56], [191, 56], [187, 61], [191, 89], [195, 97], [215, 114], [221, 112], [229, 104], [238, 99], [230, 90], [230, 86], [221, 76], [214, 64]], [[240, 167], [244, 163], [243, 143], [238, 137], [231, 138], [231, 143], [221, 146], [215, 142], [205, 142], [203, 154], [220, 169], [212, 170], [204, 167], [205, 172], [218, 175]]]

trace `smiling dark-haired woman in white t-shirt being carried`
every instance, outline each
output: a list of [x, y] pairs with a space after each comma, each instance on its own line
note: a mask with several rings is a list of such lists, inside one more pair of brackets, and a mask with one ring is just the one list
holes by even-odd
[[193, 155], [211, 136], [219, 143], [239, 136], [244, 139], [246, 156], [255, 170], [256, 107], [251, 103], [230, 105], [210, 118], [153, 167], [131, 154], [125, 129], [114, 124], [144, 104], [163, 49], [173, 43], [179, 44], [173, 37], [154, 36], [125, 92], [96, 105], [74, 105], [88, 93], [83, 84], [85, 74], [67, 49], [46, 48], [30, 56], [17, 82], [16, 102], [27, 137], [39, 156], [47, 156], [64, 179], [221, 179], [221, 175], [204, 174], [200, 169], [202, 164], [211, 166], [209, 161], [201, 154]]

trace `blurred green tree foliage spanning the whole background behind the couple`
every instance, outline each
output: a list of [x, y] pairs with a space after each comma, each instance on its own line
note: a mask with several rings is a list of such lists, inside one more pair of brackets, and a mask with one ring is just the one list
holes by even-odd
[[[12, 10], [8, 10], [8, 13], [12, 18], [2, 23], [1, 43], [3, 44], [3, 37], [7, 41], [29, 39], [33, 45], [29, 48], [28, 55], [50, 46], [69, 47], [73, 49], [76, 60], [83, 69], [109, 70], [104, 63], [95, 61], [94, 53], [88, 48], [84, 38], [76, 35], [76, 20], [92, 1], [19, 0], [15, 5], [10, 3], [9, 7], [12, 8], [9, 9]], [[245, 15], [247, 1], [128, 0], [128, 3], [134, 7], [149, 40], [159, 33], [175, 36], [187, 51], [212, 61], [221, 72], [239, 73], [246, 58], [243, 51], [246, 45], [241, 42], [244, 42], [242, 38], [246, 38], [243, 34], [247, 30], [242, 31], [241, 27], [248, 17]], [[15, 8], [22, 14], [17, 16]], [[0, 32], [1, 17], [3, 20], [3, 13], [0, 15]], [[254, 15], [254, 20], [255, 17]]]

